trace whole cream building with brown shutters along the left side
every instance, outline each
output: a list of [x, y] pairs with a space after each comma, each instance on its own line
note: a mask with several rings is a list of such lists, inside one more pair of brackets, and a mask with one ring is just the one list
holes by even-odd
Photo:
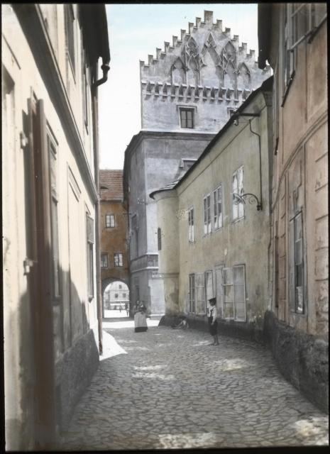
[[6, 450], [54, 450], [99, 364], [96, 109], [109, 70], [106, 11], [1, 12]]

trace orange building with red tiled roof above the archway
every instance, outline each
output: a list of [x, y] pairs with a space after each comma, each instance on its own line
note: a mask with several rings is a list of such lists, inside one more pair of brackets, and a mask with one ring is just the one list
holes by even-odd
[[100, 238], [102, 299], [106, 287], [123, 282], [129, 288], [128, 211], [123, 204], [123, 171], [100, 170]]

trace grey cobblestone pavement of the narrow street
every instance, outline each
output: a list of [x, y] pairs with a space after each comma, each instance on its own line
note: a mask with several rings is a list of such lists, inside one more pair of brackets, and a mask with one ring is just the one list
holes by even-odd
[[328, 444], [328, 416], [262, 346], [226, 336], [211, 346], [208, 333], [165, 326], [134, 333], [132, 321], [106, 326], [106, 354], [63, 450]]

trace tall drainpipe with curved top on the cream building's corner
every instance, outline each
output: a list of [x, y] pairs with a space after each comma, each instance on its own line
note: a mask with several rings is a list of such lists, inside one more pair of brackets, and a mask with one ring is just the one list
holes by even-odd
[[92, 84], [92, 115], [93, 115], [93, 141], [94, 141], [94, 179], [95, 185], [97, 187], [97, 202], [95, 204], [95, 255], [96, 255], [96, 266], [97, 266], [97, 319], [98, 319], [98, 328], [99, 328], [99, 354], [103, 353], [103, 336], [102, 336], [102, 318], [103, 318], [103, 308], [102, 308], [102, 294], [101, 294], [101, 253], [100, 253], [100, 201], [99, 201], [99, 114], [98, 114], [98, 104], [97, 104], [97, 87], [104, 84], [108, 80], [108, 71], [109, 65], [101, 65], [101, 70], [103, 71], [103, 77], [97, 80]]

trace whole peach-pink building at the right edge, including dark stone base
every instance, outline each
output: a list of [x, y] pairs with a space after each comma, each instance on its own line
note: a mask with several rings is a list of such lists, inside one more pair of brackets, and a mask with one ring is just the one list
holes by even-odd
[[272, 304], [265, 333], [282, 373], [329, 409], [326, 4], [260, 4], [259, 67], [273, 87]]

